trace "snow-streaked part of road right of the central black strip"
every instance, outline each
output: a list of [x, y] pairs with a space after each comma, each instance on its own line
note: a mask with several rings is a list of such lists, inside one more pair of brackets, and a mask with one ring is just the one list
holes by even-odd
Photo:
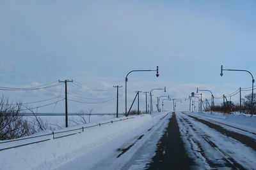
[[196, 169], [255, 169], [256, 136], [253, 132], [176, 113], [180, 135]]

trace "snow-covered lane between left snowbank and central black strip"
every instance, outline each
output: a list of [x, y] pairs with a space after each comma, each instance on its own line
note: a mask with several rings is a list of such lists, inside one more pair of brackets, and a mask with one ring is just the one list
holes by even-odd
[[172, 113], [157, 114], [143, 125], [97, 147], [58, 169], [143, 169], [150, 163]]

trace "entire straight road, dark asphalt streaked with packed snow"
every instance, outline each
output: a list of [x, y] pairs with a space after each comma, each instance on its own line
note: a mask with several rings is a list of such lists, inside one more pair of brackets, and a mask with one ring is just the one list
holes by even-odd
[[132, 133], [111, 141], [113, 146], [106, 143], [92, 151], [93, 157], [84, 155], [60, 169], [256, 168], [255, 133], [192, 113], [170, 112]]

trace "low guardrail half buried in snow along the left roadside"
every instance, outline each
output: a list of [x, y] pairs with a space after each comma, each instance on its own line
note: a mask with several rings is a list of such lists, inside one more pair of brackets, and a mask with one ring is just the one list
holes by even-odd
[[[83, 127], [77, 128], [77, 129], [70, 129], [70, 130], [68, 130], [68, 131], [52, 132], [51, 134], [43, 134], [43, 135], [32, 136], [32, 137], [28, 137], [28, 138], [13, 139], [13, 140], [10, 140], [10, 141], [3, 141], [3, 142], [0, 142], [0, 144], [12, 143], [12, 142], [15, 142], [15, 141], [24, 141], [24, 140], [26, 140], [26, 139], [42, 138], [42, 137], [44, 137], [44, 136], [52, 136], [52, 138], [41, 139], [40, 141], [33, 141], [33, 142], [30, 142], [30, 143], [23, 143], [23, 144], [11, 146], [11, 147], [0, 148], [0, 151], [12, 149], [12, 148], [18, 148], [18, 147], [20, 147], [20, 146], [32, 145], [32, 144], [35, 144], [35, 143], [41, 143], [41, 142], [44, 142], [44, 141], [49, 141], [49, 140], [51, 140], [51, 139], [58, 139], [58, 138], [64, 138], [64, 137], [67, 137], [67, 136], [72, 136], [72, 135], [74, 135], [74, 134], [84, 132], [84, 129], [88, 129], [88, 128], [96, 127], [96, 126], [99, 126], [99, 127], [100, 127], [101, 125], [105, 125], [105, 124], [113, 124], [113, 122], [120, 122], [120, 121], [122, 121], [122, 120], [128, 120], [128, 119], [131, 119], [131, 118], [134, 118], [134, 117], [123, 118], [123, 119], [121, 118], [120, 120], [111, 120], [110, 122], [104, 122], [104, 123], [101, 123], [101, 124], [99, 123], [99, 124], [90, 125], [90, 126], [83, 126]], [[74, 131], [79, 131], [79, 130], [81, 130], [81, 131], [80, 131], [80, 132], [74, 132]], [[62, 135], [62, 136], [56, 136], [56, 134], [63, 134], [63, 133], [66, 133], [66, 132], [74, 132], [74, 133], [72, 133], [72, 134], [65, 134], [65, 135]], [[0, 146], [1, 146], [1, 145], [0, 145]]]

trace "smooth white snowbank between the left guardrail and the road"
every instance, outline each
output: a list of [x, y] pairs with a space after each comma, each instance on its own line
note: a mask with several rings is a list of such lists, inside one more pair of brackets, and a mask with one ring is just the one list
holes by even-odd
[[[118, 120], [116, 118], [114, 120]], [[80, 155], [152, 122], [150, 115], [84, 129], [83, 133], [0, 152], [0, 169], [54, 169]], [[99, 122], [100, 123], [100, 122]], [[104, 151], [102, 151], [102, 154]]]

